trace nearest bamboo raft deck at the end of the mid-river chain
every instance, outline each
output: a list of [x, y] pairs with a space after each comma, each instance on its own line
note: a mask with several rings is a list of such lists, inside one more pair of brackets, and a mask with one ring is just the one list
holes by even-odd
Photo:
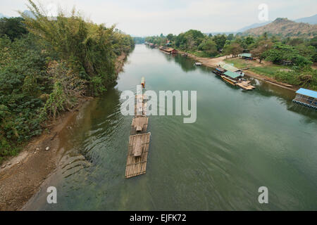
[[138, 176], [147, 172], [150, 136], [151, 133], [130, 136], [125, 178]]

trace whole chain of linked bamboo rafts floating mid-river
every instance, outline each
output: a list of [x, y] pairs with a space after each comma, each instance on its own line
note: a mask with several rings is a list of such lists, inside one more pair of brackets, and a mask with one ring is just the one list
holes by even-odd
[[[142, 87], [145, 79], [142, 77]], [[135, 117], [131, 124], [125, 178], [138, 176], [147, 172], [147, 155], [151, 133], [147, 132], [149, 118], [147, 117], [147, 98], [144, 94], [135, 96]]]

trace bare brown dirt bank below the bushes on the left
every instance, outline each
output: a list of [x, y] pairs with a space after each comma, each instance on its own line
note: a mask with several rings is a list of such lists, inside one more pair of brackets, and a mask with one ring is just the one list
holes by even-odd
[[[116, 61], [116, 72], [123, 70], [126, 54]], [[58, 134], [77, 115], [78, 110], [92, 98], [82, 97], [72, 111], [62, 113], [52, 122], [49, 131], [33, 138], [19, 155], [9, 158], [0, 166], [0, 211], [20, 210], [43, 181], [58, 166]]]

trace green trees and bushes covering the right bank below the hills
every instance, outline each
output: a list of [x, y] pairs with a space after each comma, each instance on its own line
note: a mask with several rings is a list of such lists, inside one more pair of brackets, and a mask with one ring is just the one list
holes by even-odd
[[[243, 36], [241, 34], [203, 34], [199, 30], [189, 30], [178, 35], [146, 37], [144, 41], [168, 45], [180, 51], [186, 51], [199, 57], [232, 55], [237, 68], [250, 67], [250, 70], [260, 75], [273, 77], [279, 82], [285, 82], [307, 89], [317, 90], [317, 72], [311, 68], [317, 62], [317, 34], [311, 39], [302, 37], [283, 37], [264, 32], [260, 36]], [[249, 52], [254, 58], [271, 62], [257, 67], [241, 63], [237, 56]], [[247, 62], [247, 60], [243, 60]], [[291, 65], [282, 65], [288, 61]]]

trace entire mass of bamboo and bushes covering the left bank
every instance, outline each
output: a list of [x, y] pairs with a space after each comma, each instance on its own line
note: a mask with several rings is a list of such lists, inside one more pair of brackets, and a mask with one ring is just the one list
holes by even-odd
[[135, 46], [75, 9], [50, 18], [29, 4], [34, 16], [0, 20], [0, 163], [80, 98], [104, 93], [116, 82], [116, 59]]

